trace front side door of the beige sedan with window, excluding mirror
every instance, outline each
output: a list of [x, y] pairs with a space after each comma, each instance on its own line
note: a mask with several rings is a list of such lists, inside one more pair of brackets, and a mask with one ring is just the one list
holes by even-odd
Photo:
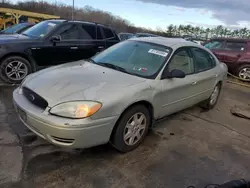
[[179, 48], [168, 62], [165, 70], [182, 70], [185, 78], [166, 78], [161, 80], [162, 91], [158, 98], [162, 106], [160, 117], [164, 117], [196, 104], [197, 77], [195, 76], [194, 58], [189, 47]]

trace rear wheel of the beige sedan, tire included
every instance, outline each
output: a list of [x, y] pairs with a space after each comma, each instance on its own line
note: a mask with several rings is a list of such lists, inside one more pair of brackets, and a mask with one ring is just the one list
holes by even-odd
[[221, 92], [221, 83], [218, 83], [214, 87], [214, 90], [213, 90], [212, 94], [210, 95], [210, 97], [206, 101], [204, 101], [202, 103], [201, 107], [204, 108], [204, 109], [208, 109], [208, 110], [214, 108], [214, 106], [218, 102], [218, 99], [219, 99], [219, 96], [220, 96], [220, 92]]

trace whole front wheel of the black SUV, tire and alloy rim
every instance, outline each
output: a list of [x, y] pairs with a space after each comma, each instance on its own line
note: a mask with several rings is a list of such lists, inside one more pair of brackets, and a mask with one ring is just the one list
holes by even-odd
[[0, 78], [10, 84], [21, 83], [31, 72], [29, 61], [20, 56], [9, 56], [0, 62]]

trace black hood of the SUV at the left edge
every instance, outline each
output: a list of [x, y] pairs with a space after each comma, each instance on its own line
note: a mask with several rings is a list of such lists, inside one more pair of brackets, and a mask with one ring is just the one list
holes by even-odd
[[20, 35], [20, 34], [0, 34], [0, 44], [15, 42], [20, 43], [21, 41], [30, 41], [32, 38]]

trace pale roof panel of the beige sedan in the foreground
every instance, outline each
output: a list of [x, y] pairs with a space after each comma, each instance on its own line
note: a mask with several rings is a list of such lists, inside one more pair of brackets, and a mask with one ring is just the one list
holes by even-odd
[[131, 38], [129, 40], [160, 44], [163, 46], [171, 47], [173, 50], [182, 46], [194, 46], [194, 47], [204, 48], [201, 45], [198, 45], [194, 42], [187, 41], [182, 38], [141, 37], [141, 38]]

